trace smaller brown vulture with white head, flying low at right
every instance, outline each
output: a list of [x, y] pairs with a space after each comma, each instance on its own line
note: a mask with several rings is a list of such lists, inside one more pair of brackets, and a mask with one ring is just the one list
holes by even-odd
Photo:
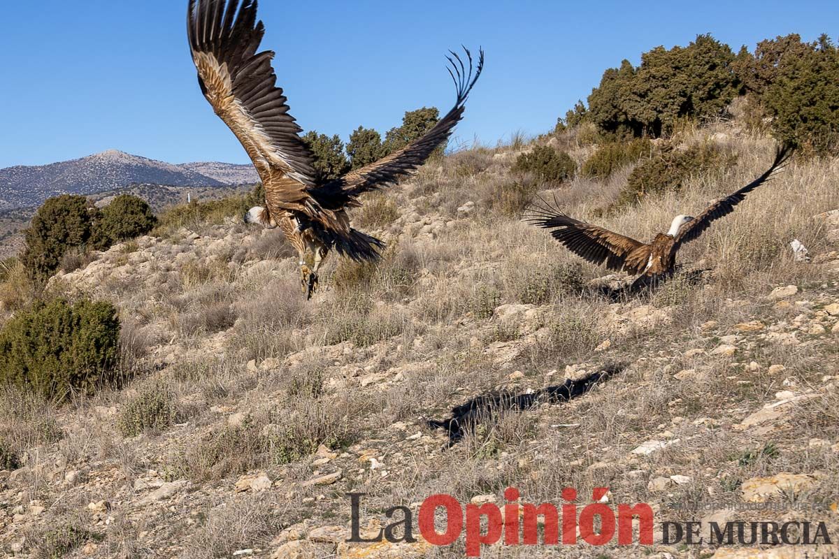
[[732, 213], [734, 206], [746, 198], [746, 194], [772, 179], [774, 173], [788, 162], [792, 149], [782, 146], [775, 155], [772, 166], [758, 179], [725, 198], [718, 199], [696, 218], [677, 215], [668, 233], [659, 233], [652, 242], [643, 243], [628, 236], [613, 233], [597, 225], [563, 214], [557, 208], [545, 203], [534, 204], [527, 220], [544, 229], [565, 248], [592, 264], [604, 265], [609, 270], [640, 275], [639, 282], [650, 278], [667, 276], [675, 268], [676, 252], [680, 247], [699, 237], [716, 220]]

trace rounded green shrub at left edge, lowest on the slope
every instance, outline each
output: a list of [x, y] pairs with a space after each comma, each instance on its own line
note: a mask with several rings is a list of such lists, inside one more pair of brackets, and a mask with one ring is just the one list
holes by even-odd
[[0, 330], [0, 380], [57, 401], [113, 380], [120, 323], [111, 303], [36, 302]]

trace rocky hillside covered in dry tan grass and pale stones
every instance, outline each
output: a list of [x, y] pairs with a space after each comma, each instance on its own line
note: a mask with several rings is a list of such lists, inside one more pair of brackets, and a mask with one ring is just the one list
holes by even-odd
[[[724, 145], [737, 164], [605, 217], [628, 169], [541, 194], [650, 239], [753, 179], [774, 152], [732, 127], [682, 139]], [[593, 149], [552, 142], [578, 162]], [[665, 545], [664, 521], [810, 520], [839, 534], [839, 163], [793, 163], [680, 254], [706, 272], [614, 303], [597, 286], [625, 278], [581, 264], [499, 203], [518, 192], [518, 154], [458, 153], [368, 198], [354, 220], [388, 240], [383, 263], [331, 256], [310, 303], [279, 233], [237, 220], [114, 246], [55, 277], [54, 289], [122, 309], [128, 381], [60, 409], [0, 397], [4, 432], [27, 449], [23, 468], [0, 473], [0, 550], [461, 557], [462, 540], [347, 543], [347, 493], [366, 494], [371, 536], [394, 505], [415, 523], [432, 494], [503, 505], [508, 486], [529, 503], [560, 505], [566, 487], [581, 508], [597, 487], [612, 506], [648, 503], [656, 544], [483, 556], [800, 556]], [[809, 261], [795, 261], [795, 238]], [[622, 372], [564, 405], [499, 411], [453, 448], [426, 427], [487, 391], [527, 393], [607, 366]]]

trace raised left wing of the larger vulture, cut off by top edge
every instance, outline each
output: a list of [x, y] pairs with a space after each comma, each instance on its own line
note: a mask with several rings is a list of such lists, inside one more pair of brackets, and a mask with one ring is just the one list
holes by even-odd
[[190, 0], [187, 32], [201, 92], [248, 152], [281, 207], [310, 205], [312, 155], [289, 115], [271, 67], [274, 53], [257, 53], [265, 28], [257, 1]]

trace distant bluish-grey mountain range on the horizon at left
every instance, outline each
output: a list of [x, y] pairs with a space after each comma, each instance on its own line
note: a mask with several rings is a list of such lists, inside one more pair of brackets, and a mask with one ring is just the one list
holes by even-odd
[[0, 210], [39, 206], [59, 194], [96, 194], [133, 184], [222, 188], [257, 181], [251, 165], [174, 165], [109, 150], [50, 165], [0, 169]]

